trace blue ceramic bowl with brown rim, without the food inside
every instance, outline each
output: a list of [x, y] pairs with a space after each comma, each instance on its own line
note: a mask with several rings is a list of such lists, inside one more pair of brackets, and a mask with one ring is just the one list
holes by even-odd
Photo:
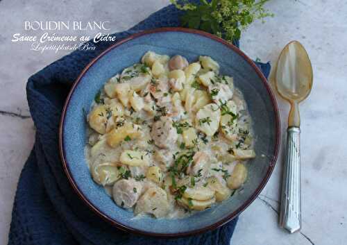
[[[139, 62], [146, 51], [169, 56], [179, 54], [189, 62], [198, 56], [211, 56], [219, 62], [221, 74], [234, 77], [244, 93], [255, 131], [257, 158], [248, 164], [248, 180], [242, 194], [185, 219], [133, 219], [115, 205], [103, 187], [90, 176], [84, 155], [88, 110], [97, 91], [108, 78]], [[266, 78], [253, 61], [228, 42], [201, 31], [186, 28], [160, 28], [132, 35], [110, 47], [83, 70], [71, 89], [60, 124], [60, 152], [65, 171], [78, 196], [94, 212], [122, 230], [160, 237], [201, 233], [223, 225], [254, 201], [269, 179], [278, 155], [280, 127], [278, 108]], [[261, 157], [264, 155], [265, 157]]]

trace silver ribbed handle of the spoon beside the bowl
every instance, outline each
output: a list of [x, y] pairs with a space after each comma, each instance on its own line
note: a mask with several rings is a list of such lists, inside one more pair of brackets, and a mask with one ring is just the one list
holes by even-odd
[[280, 226], [295, 233], [301, 228], [300, 128], [287, 129], [287, 150], [283, 172]]

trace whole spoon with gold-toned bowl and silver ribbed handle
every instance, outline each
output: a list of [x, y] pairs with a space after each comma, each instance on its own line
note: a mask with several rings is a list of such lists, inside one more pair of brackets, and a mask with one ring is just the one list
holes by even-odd
[[303, 45], [292, 41], [278, 58], [275, 84], [278, 94], [290, 105], [287, 149], [280, 205], [280, 226], [289, 233], [301, 228], [300, 114], [298, 104], [310, 94], [312, 65]]

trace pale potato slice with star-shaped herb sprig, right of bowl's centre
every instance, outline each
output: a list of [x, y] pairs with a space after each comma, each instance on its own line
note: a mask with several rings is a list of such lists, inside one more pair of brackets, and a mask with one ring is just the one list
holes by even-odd
[[198, 110], [196, 113], [195, 125], [198, 130], [201, 130], [208, 136], [214, 135], [219, 128], [221, 120], [221, 110], [218, 105], [210, 103]]

